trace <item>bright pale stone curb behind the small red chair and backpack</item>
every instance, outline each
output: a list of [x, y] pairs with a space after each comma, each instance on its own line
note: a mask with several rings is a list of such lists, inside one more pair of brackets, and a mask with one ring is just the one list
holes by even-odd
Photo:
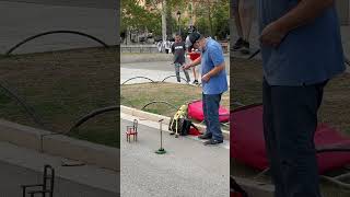
[[[171, 118], [167, 116], [162, 116], [162, 115], [158, 115], [158, 114], [152, 114], [152, 113], [148, 113], [148, 112], [143, 112], [137, 108], [132, 108], [132, 107], [128, 107], [125, 105], [120, 105], [120, 113], [125, 113], [131, 116], [137, 116], [139, 118], [143, 118], [143, 119], [148, 119], [148, 120], [152, 120], [152, 121], [158, 121], [160, 119], [164, 119], [164, 124], [168, 125], [171, 121]], [[203, 125], [199, 125], [199, 124], [195, 124], [196, 127], [198, 127], [200, 130], [206, 130], [206, 126]], [[225, 140], [230, 140], [230, 131], [228, 130], [222, 130], [222, 135], [223, 138]]]

